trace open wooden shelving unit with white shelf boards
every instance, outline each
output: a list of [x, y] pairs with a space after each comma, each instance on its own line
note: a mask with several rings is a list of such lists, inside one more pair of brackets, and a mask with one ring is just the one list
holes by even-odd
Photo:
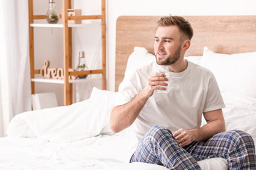
[[[106, 82], [106, 13], [105, 13], [105, 0], [101, 0], [101, 15], [95, 16], [68, 16], [68, 8], [72, 8], [71, 0], [63, 0], [63, 15], [62, 24], [41, 24], [34, 23], [34, 20], [45, 20], [46, 15], [33, 15], [33, 0], [28, 0], [28, 15], [29, 15], [29, 49], [30, 49], [30, 62], [31, 62], [31, 92], [35, 93], [35, 82], [56, 83], [64, 85], [64, 105], [73, 103], [73, 83], [81, 81], [90, 81], [94, 79], [76, 79], [70, 80], [69, 76], [79, 76], [87, 74], [102, 74], [102, 89], [107, 89]], [[81, 27], [83, 24], [68, 25], [68, 20], [101, 20], [102, 28], [102, 69], [87, 70], [81, 72], [69, 72], [68, 69], [72, 68], [72, 28]], [[59, 21], [60, 22], [60, 21]], [[64, 79], [35, 79], [35, 74], [40, 74], [40, 69], [35, 69], [34, 64], [34, 31], [35, 27], [54, 27], [63, 29], [63, 69]]]

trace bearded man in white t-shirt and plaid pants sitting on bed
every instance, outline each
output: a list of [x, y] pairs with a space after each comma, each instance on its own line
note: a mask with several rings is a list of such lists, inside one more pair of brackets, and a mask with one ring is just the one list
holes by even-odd
[[[168, 169], [201, 169], [197, 161], [223, 157], [230, 169], [256, 169], [252, 137], [240, 130], [225, 131], [225, 107], [213, 74], [184, 60], [193, 29], [179, 16], [161, 18], [156, 30], [156, 61], [124, 77], [110, 120], [113, 132], [134, 123], [139, 139], [130, 162], [161, 164]], [[156, 74], [168, 66], [169, 77]], [[164, 81], [170, 82], [168, 94]], [[161, 86], [159, 86], [161, 85]], [[201, 116], [206, 125], [201, 127]]]

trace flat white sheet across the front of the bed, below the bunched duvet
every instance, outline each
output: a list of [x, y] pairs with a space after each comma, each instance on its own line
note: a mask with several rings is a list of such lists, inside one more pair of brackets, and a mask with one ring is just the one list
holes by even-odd
[[[134, 149], [130, 144], [129, 137], [118, 135], [98, 135], [75, 142], [4, 137], [0, 139], [0, 169], [166, 170], [154, 164], [129, 164], [127, 157]], [[209, 159], [199, 164], [202, 169], [227, 169], [223, 168], [224, 159]]]

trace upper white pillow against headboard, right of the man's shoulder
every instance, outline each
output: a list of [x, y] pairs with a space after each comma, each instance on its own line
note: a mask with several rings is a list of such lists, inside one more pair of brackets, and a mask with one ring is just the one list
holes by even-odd
[[256, 98], [256, 52], [226, 55], [205, 47], [201, 65], [213, 72], [220, 91]]

